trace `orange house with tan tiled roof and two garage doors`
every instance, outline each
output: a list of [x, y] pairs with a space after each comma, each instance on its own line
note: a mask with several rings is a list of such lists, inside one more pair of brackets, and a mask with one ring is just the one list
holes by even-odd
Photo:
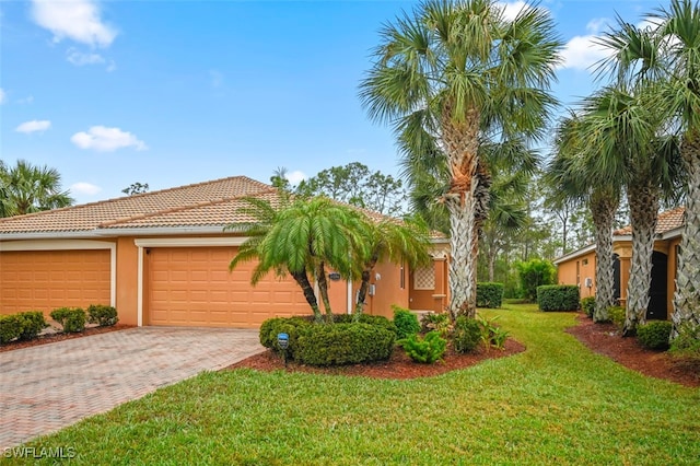
[[[245, 237], [224, 233], [246, 196], [276, 189], [245, 176], [0, 219], [0, 314], [109, 304], [129, 325], [257, 327], [275, 316], [310, 314], [291, 279], [250, 284], [254, 263], [229, 271]], [[380, 264], [365, 312], [392, 304], [442, 311], [447, 241], [434, 237], [432, 267]], [[354, 305], [358, 283], [330, 282], [335, 312]]]

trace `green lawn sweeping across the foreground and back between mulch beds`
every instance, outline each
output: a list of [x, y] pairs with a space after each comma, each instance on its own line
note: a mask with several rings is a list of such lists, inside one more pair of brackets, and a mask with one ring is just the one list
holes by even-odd
[[699, 389], [592, 353], [563, 331], [573, 314], [482, 314], [527, 351], [413, 381], [203, 373], [28, 446], [77, 464], [700, 463]]

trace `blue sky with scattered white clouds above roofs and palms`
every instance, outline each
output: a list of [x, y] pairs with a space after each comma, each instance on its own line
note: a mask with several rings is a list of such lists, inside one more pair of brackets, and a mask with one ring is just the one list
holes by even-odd
[[[416, 4], [0, 0], [0, 159], [57, 168], [78, 203], [137, 182], [268, 183], [280, 167], [293, 184], [351, 162], [397, 176], [392, 130], [370, 120], [358, 85], [382, 25]], [[539, 4], [565, 43], [559, 112], [600, 84], [595, 37], [662, 5]]]

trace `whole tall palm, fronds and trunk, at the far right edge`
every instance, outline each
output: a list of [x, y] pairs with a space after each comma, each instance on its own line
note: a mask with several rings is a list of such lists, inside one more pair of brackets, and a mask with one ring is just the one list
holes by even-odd
[[680, 326], [700, 326], [700, 7], [670, 0], [667, 9], [650, 15], [668, 57], [669, 79], [663, 107], [680, 132], [686, 174], [686, 213], [674, 293], [674, 336]]

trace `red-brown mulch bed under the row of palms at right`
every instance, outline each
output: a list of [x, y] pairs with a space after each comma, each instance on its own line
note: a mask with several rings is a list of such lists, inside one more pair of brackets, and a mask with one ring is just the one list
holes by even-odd
[[678, 364], [668, 352], [644, 349], [635, 338], [622, 338], [616, 330], [614, 324], [595, 324], [585, 314], [579, 314], [579, 325], [567, 329], [592, 351], [626, 368], [651, 377], [700, 387], [700, 373]]

